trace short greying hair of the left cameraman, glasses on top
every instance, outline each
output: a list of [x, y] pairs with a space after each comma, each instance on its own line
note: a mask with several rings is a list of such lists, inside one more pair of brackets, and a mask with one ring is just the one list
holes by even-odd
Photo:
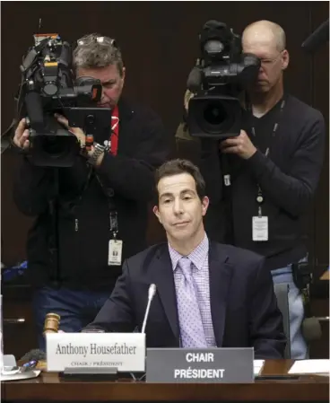
[[74, 68], [98, 68], [117, 65], [123, 75], [123, 59], [115, 39], [91, 33], [77, 40], [74, 48]]

